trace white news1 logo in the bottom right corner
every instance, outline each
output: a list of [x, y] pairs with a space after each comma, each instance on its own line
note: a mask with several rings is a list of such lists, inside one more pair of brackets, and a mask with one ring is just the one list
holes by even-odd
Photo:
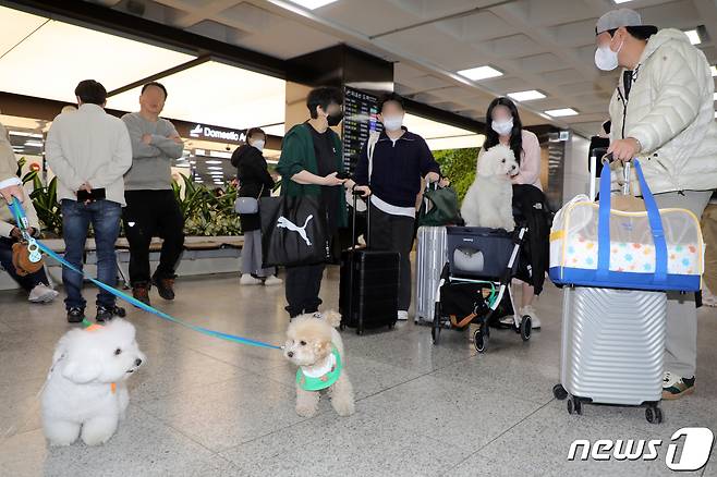
[[[684, 438], [684, 439], [682, 439]], [[678, 454], [679, 441], [682, 440], [682, 452]], [[707, 464], [712, 453], [715, 436], [706, 427], [683, 427], [672, 435], [667, 447], [665, 465], [671, 470], [698, 470]], [[591, 442], [576, 439], [570, 444], [568, 461], [655, 461], [659, 456], [661, 439], [652, 440], [611, 440], [599, 439]], [[579, 453], [580, 450], [580, 453]], [[678, 457], [679, 455], [679, 457]]]

